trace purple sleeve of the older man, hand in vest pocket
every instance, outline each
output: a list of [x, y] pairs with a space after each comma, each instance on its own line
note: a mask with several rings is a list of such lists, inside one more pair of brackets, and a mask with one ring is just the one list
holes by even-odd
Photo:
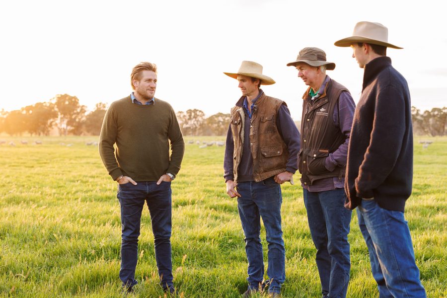
[[338, 98], [338, 103], [335, 105], [333, 120], [340, 131], [346, 136], [346, 141], [340, 147], [326, 158], [324, 166], [333, 171], [335, 167], [345, 166], [348, 157], [348, 144], [351, 135], [352, 119], [354, 118], [354, 110], [356, 104], [349, 92], [343, 91]]

